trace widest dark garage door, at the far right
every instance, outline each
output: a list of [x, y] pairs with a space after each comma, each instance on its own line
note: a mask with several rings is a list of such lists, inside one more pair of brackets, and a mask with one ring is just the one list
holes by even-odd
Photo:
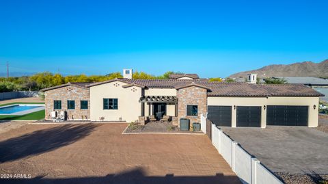
[[307, 126], [308, 106], [268, 105], [267, 124], [280, 126]]

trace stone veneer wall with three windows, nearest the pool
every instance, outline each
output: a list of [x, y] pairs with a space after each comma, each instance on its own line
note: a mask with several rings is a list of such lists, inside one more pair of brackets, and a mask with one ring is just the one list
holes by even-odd
[[[53, 101], [61, 101], [61, 110], [66, 110], [68, 120], [82, 120], [82, 116], [90, 119], [90, 90], [77, 86], [66, 86], [44, 92], [46, 105], [46, 120], [51, 120], [51, 111], [53, 111]], [[75, 109], [67, 109], [67, 101], [75, 101]], [[81, 109], [81, 102], [87, 101], [87, 109]], [[56, 111], [60, 111], [56, 109]]]

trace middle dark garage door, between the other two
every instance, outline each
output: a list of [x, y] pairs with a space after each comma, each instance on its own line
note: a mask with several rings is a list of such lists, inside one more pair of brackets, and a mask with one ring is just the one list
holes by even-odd
[[236, 127], [261, 127], [261, 106], [237, 106]]

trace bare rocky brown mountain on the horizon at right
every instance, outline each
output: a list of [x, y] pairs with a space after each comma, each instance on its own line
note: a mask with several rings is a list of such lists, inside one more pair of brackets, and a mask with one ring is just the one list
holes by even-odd
[[230, 75], [230, 78], [244, 77], [257, 73], [258, 77], [328, 77], [328, 60], [320, 63], [298, 62], [294, 64], [272, 64], [256, 70]]

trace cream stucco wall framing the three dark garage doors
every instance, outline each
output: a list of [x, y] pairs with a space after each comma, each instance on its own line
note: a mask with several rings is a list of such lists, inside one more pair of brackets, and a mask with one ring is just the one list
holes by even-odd
[[[306, 105], [309, 106], [308, 127], [318, 126], [318, 97], [268, 97], [268, 98], [245, 98], [245, 97], [208, 97], [208, 105], [230, 106], [262, 106], [261, 127], [267, 126], [267, 111], [264, 105]], [[316, 105], [316, 109], [313, 108]], [[236, 127], [236, 110], [232, 108], [232, 127]]]

